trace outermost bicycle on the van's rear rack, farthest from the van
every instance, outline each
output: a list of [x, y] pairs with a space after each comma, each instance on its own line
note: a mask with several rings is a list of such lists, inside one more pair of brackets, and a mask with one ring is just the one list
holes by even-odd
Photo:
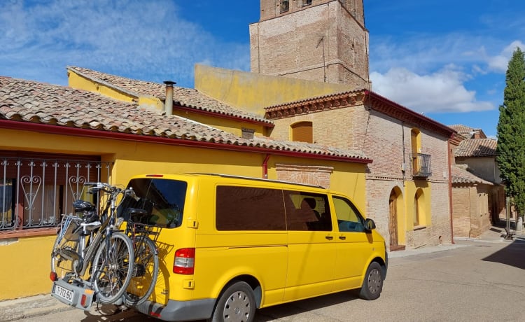
[[[92, 292], [85, 290], [94, 290], [97, 302], [103, 304], [121, 300], [134, 269], [134, 246], [118, 230], [122, 221], [116, 220], [118, 197], [123, 195], [120, 202], [128, 195], [134, 197], [133, 190], [107, 183], [85, 183], [85, 186], [90, 187], [89, 193], [109, 195], [106, 207], [99, 216], [94, 204], [73, 202], [76, 214], [62, 218], [51, 252], [50, 273], [52, 295], [82, 309], [88, 309], [92, 300]], [[86, 273], [90, 276], [84, 279]], [[76, 293], [83, 296], [78, 298]], [[86, 294], [90, 300], [86, 300]]]

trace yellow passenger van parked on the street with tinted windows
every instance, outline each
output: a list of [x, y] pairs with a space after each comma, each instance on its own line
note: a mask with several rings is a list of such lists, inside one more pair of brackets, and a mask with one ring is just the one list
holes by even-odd
[[155, 291], [136, 309], [164, 321], [253, 321], [255, 309], [360, 288], [379, 297], [384, 239], [349, 197], [220, 174], [135, 176], [162, 226]]

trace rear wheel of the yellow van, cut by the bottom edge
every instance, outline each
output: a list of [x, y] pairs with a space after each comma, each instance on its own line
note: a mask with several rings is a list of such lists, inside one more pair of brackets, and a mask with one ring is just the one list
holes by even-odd
[[215, 306], [211, 322], [252, 322], [255, 318], [255, 295], [244, 281], [228, 286]]

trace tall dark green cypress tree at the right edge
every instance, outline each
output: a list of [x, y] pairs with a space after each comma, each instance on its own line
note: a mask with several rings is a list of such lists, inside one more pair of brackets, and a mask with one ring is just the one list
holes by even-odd
[[525, 59], [514, 50], [507, 68], [503, 105], [499, 107], [496, 161], [505, 193], [518, 214], [525, 212]]

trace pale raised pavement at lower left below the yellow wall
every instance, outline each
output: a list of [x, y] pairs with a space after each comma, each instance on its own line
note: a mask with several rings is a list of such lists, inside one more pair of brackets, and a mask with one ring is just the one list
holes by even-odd
[[72, 309], [75, 308], [59, 302], [50, 294], [22, 297], [0, 302], [0, 321], [15, 321]]

